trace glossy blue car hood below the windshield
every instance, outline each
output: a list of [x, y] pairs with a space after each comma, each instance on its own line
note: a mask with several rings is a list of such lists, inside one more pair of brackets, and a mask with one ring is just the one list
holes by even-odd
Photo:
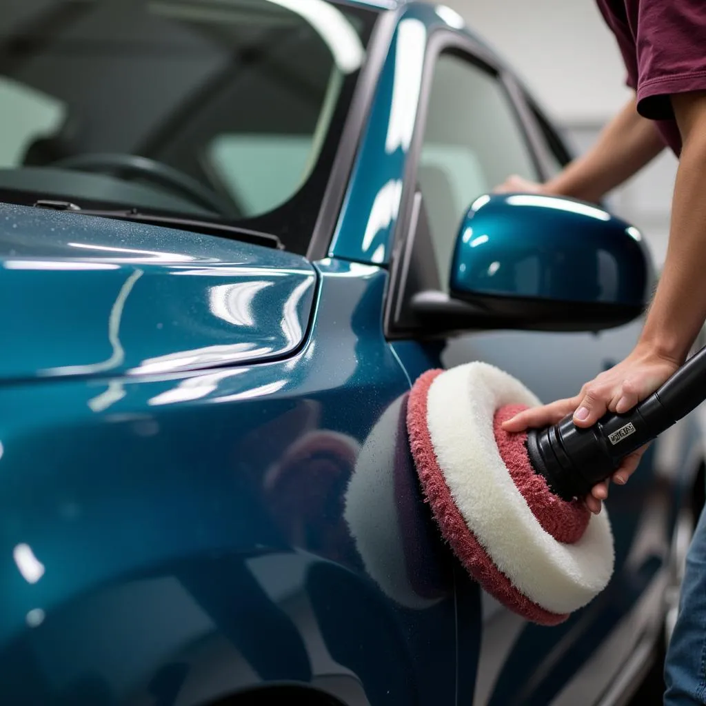
[[0, 380], [282, 357], [301, 344], [315, 287], [292, 253], [0, 204]]

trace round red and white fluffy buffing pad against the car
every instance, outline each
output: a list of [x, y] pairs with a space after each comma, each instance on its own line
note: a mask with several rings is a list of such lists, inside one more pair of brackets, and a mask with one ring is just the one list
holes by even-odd
[[539, 400], [481, 362], [424, 373], [407, 408], [412, 457], [445, 539], [486, 591], [535, 623], [589, 603], [614, 568], [608, 513], [551, 493], [530, 465], [526, 434], [501, 423]]

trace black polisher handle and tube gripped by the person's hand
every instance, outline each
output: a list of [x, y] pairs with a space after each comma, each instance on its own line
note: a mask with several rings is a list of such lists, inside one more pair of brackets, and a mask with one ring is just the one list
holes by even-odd
[[568, 415], [530, 432], [527, 450], [538, 472], [565, 499], [582, 497], [611, 477], [623, 458], [669, 429], [706, 400], [706, 347], [694, 354], [650, 397], [624, 414], [609, 412], [589, 429]]

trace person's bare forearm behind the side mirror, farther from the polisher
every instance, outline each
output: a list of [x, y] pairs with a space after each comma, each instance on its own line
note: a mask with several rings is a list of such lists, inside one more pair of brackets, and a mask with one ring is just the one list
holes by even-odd
[[635, 109], [635, 100], [600, 133], [593, 147], [544, 185], [546, 193], [600, 201], [664, 149], [651, 121]]

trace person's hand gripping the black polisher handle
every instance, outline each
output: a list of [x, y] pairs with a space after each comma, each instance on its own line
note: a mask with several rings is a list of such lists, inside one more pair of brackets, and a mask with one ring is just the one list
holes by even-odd
[[[644, 346], [639, 346], [621, 363], [601, 373], [586, 383], [578, 395], [566, 400], [557, 400], [543, 407], [534, 407], [520, 412], [503, 424], [503, 429], [511, 432], [525, 429], [539, 429], [561, 421], [567, 414], [573, 414], [576, 426], [587, 428], [595, 424], [606, 412], [628, 412], [651, 395], [678, 368], [680, 361]], [[613, 481], [620, 485], [640, 463], [647, 445], [626, 456], [613, 475]], [[601, 511], [601, 503], [608, 497], [608, 481], [597, 484], [586, 496], [586, 505], [592, 513]]]

